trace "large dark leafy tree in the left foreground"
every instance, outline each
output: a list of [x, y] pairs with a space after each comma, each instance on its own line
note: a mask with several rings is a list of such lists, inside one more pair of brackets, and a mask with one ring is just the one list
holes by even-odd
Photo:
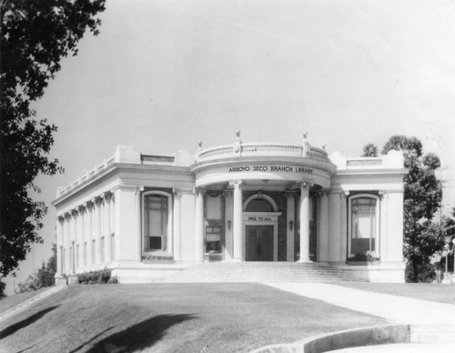
[[0, 275], [13, 274], [33, 243], [47, 207], [30, 197], [39, 174], [63, 171], [48, 154], [56, 126], [35, 120], [30, 104], [44, 95], [60, 60], [76, 55], [88, 29], [94, 35], [105, 0], [0, 0], [1, 135]]

